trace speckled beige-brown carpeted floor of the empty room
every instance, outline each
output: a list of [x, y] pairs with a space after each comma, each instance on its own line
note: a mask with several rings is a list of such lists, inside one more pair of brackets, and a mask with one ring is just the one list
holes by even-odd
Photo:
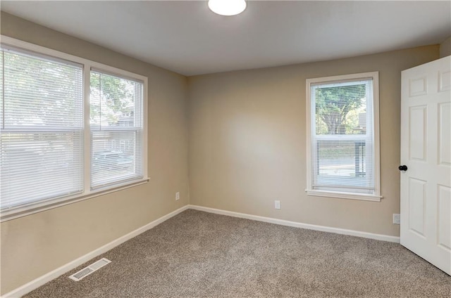
[[93, 261], [25, 297], [451, 297], [451, 277], [401, 245], [194, 210]]

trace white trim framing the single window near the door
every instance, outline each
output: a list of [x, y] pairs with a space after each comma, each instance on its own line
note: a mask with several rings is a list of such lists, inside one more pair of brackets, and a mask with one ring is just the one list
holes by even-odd
[[[342, 193], [335, 191], [316, 190], [311, 186], [311, 84], [327, 84], [328, 82], [343, 82], [355, 79], [373, 79], [373, 144], [374, 144], [374, 193], [371, 195], [360, 193]], [[306, 136], [307, 136], [307, 195], [319, 197], [336, 197], [341, 199], [365, 200], [381, 202], [381, 157], [379, 138], [379, 72], [363, 72], [359, 74], [344, 74], [333, 77], [317, 77], [306, 80]]]

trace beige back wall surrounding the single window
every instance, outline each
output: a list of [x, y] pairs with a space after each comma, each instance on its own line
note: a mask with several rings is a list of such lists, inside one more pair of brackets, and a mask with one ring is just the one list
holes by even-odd
[[[437, 58], [438, 46], [424, 46], [188, 78], [190, 203], [399, 236], [401, 71]], [[306, 195], [305, 80], [371, 71], [380, 79], [383, 200]]]

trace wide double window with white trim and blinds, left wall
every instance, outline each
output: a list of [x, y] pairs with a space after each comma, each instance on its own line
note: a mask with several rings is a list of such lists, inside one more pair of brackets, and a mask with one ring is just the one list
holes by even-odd
[[147, 181], [146, 77], [1, 41], [1, 220]]

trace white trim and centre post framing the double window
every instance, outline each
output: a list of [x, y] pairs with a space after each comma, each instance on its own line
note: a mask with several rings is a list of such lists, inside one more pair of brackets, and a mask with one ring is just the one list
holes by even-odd
[[126, 70], [121, 70], [116, 67], [112, 67], [109, 65], [104, 65], [102, 63], [97, 63], [92, 60], [88, 60], [85, 58], [80, 58], [78, 56], [73, 56], [68, 53], [63, 53], [60, 51], [53, 50], [51, 48], [45, 48], [44, 46], [38, 46], [36, 44], [30, 44], [26, 41], [21, 41], [19, 39], [14, 39], [12, 37], [6, 37], [4, 35], [0, 35], [1, 44], [6, 46], [13, 46], [15, 48], [22, 48], [26, 51], [32, 51], [45, 56], [51, 56], [55, 58], [60, 58], [63, 60], [68, 60], [69, 62], [74, 62], [83, 65], [83, 89], [84, 89], [84, 125], [83, 125], [83, 141], [85, 144], [90, 143], [90, 129], [89, 129], [89, 85], [90, 85], [90, 70], [101, 70], [104, 72], [109, 72], [110, 74], [116, 74], [119, 77], [137, 79], [143, 82], [143, 129], [142, 129], [142, 171], [143, 177], [142, 179], [126, 181], [123, 183], [118, 183], [116, 186], [112, 186], [105, 189], [96, 189], [91, 190], [90, 188], [90, 148], [89, 145], [84, 145], [84, 184], [83, 184], [83, 193], [79, 193], [78, 195], [66, 196], [61, 198], [52, 198], [49, 200], [44, 200], [41, 202], [34, 202], [30, 205], [23, 205], [16, 208], [11, 208], [4, 210], [1, 212], [0, 222], [8, 221], [11, 219], [16, 219], [21, 216], [26, 216], [29, 214], [34, 214], [37, 212], [42, 212], [47, 209], [53, 209], [56, 207], [61, 207], [63, 205], [72, 204], [73, 202], [79, 202], [81, 200], [87, 200], [92, 197], [98, 197], [99, 195], [105, 195], [107, 193], [113, 193], [119, 190], [123, 190], [126, 188], [130, 188], [133, 186], [138, 186], [143, 183], [147, 183], [149, 181], [148, 177], [148, 161], [147, 161], [147, 127], [148, 127], [148, 117], [147, 117], [147, 108], [148, 108], [148, 79], [140, 74], [135, 74], [132, 72], [128, 72]]

